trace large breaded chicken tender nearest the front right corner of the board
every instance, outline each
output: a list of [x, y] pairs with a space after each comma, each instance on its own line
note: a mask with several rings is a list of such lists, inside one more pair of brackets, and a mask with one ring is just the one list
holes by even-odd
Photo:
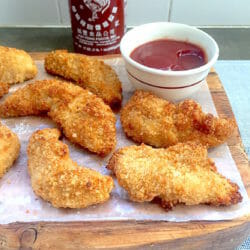
[[239, 187], [217, 172], [206, 147], [196, 142], [167, 149], [125, 147], [114, 153], [108, 168], [136, 202], [158, 198], [170, 209], [178, 203], [229, 206], [242, 200]]

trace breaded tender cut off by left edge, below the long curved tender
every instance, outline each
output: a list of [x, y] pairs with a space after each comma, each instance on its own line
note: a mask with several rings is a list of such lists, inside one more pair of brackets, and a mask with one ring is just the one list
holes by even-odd
[[15, 133], [0, 123], [0, 178], [19, 156], [20, 142]]

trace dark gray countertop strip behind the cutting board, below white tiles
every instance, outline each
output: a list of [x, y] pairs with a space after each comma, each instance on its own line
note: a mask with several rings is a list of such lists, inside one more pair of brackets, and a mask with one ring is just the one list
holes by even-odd
[[[250, 60], [250, 28], [202, 28], [220, 48], [220, 60]], [[1, 28], [0, 44], [30, 52], [73, 50], [70, 28]]]

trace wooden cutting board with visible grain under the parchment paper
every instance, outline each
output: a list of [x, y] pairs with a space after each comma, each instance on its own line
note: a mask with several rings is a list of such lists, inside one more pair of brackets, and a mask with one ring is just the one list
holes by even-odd
[[[46, 53], [31, 55], [33, 59], [41, 60]], [[234, 117], [226, 93], [214, 70], [209, 73], [207, 82], [218, 114], [222, 117]], [[228, 141], [228, 145], [250, 197], [250, 164], [239, 131]], [[236, 220], [219, 222], [11, 223], [0, 225], [0, 249], [151, 249], [153, 247], [228, 250], [235, 249], [248, 235], [250, 235], [250, 214]]]

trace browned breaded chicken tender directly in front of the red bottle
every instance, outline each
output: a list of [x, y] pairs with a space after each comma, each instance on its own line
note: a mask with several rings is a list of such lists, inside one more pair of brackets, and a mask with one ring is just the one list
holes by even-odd
[[46, 56], [45, 69], [48, 73], [75, 81], [101, 97], [112, 108], [121, 105], [121, 82], [115, 71], [101, 60], [56, 50]]

